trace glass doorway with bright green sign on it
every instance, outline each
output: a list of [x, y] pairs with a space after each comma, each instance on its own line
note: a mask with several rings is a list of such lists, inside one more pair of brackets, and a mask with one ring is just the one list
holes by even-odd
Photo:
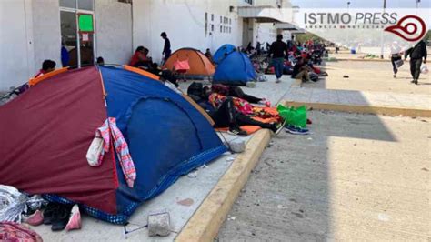
[[95, 63], [94, 0], [59, 0], [62, 66]]

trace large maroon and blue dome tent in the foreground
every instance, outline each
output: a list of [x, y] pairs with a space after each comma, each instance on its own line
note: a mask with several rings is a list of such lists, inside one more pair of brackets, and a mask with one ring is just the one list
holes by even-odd
[[[91, 216], [115, 224], [125, 224], [139, 205], [179, 176], [226, 152], [205, 116], [183, 96], [148, 76], [114, 67], [48, 78], [0, 106], [0, 116], [0, 184], [78, 203]], [[127, 187], [114, 150], [102, 166], [87, 164], [95, 130], [108, 116], [116, 118], [135, 162], [134, 187]]]

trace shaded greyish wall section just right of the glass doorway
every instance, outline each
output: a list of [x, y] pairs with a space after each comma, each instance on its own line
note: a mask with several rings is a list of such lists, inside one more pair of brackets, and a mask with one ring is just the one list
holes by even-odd
[[95, 57], [106, 64], [127, 64], [132, 51], [132, 5], [95, 0]]

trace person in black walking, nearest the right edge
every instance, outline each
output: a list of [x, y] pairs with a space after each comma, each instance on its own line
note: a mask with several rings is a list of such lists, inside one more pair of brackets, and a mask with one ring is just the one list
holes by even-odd
[[424, 59], [424, 64], [426, 64], [426, 43], [424, 40], [419, 41], [413, 48], [406, 51], [404, 60], [406, 61], [408, 55], [410, 55], [410, 72], [413, 77], [412, 83], [417, 85], [417, 81], [420, 76], [420, 66], [422, 65], [422, 59]]

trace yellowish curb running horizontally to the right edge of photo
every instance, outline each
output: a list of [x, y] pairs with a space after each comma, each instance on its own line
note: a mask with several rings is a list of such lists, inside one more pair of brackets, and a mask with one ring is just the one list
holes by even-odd
[[338, 105], [338, 104], [325, 104], [325, 103], [304, 103], [285, 101], [286, 106], [306, 106], [308, 108], [320, 110], [332, 110], [339, 112], [352, 112], [373, 115], [386, 115], [386, 116], [421, 116], [431, 117], [430, 109], [418, 109], [411, 107], [396, 107], [396, 106], [356, 106], [356, 105]]

